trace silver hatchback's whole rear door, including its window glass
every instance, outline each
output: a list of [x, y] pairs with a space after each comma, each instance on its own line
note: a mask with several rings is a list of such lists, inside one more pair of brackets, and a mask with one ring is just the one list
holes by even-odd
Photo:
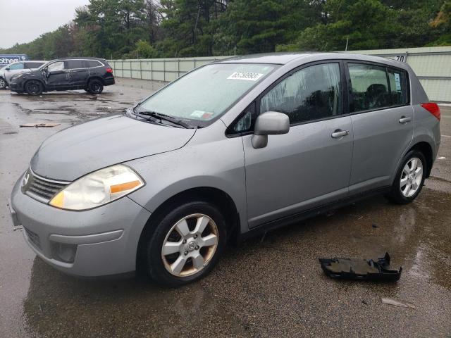
[[412, 142], [414, 116], [406, 71], [349, 61], [347, 80], [354, 127], [352, 194], [391, 184]]

